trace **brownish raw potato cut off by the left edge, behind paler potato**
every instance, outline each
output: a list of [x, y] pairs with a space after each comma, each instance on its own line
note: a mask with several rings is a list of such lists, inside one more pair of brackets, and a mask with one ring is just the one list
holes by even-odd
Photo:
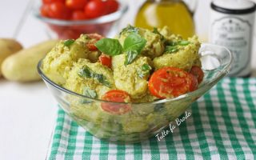
[[[22, 45], [19, 42], [10, 38], [0, 38], [0, 69], [3, 60], [11, 54], [18, 52], [18, 50], [22, 50]], [[0, 77], [1, 76], [2, 71], [0, 70]]]

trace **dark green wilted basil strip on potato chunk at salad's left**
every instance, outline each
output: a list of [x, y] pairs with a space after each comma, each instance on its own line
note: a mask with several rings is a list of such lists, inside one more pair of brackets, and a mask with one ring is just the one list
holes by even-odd
[[94, 78], [98, 82], [102, 83], [104, 86], [110, 87], [110, 82], [107, 81], [106, 77], [103, 74], [95, 73], [94, 71], [90, 70], [88, 66], [84, 66], [81, 70], [79, 70], [78, 75], [81, 78]]

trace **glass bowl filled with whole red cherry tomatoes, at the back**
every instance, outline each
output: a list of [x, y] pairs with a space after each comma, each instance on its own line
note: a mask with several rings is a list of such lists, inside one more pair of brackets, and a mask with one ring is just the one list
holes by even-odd
[[42, 0], [34, 15], [46, 24], [50, 38], [75, 39], [88, 33], [109, 36], [127, 10], [117, 0]]

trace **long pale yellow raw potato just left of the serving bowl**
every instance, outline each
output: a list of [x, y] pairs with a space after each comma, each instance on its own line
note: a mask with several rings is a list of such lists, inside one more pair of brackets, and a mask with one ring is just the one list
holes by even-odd
[[10, 81], [30, 82], [40, 80], [38, 62], [56, 45], [58, 40], [39, 43], [19, 51], [2, 62], [2, 75]]

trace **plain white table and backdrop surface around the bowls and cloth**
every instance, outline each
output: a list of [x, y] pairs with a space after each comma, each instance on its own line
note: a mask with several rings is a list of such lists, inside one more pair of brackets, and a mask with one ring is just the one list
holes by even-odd
[[[133, 22], [138, 8], [138, 0], [126, 1], [130, 11], [122, 18], [120, 28]], [[16, 38], [24, 47], [48, 38], [43, 24], [31, 14], [32, 2], [1, 0], [0, 38]], [[202, 38], [207, 35], [209, 2], [200, 0], [195, 14]], [[256, 58], [255, 47], [252, 59]], [[256, 61], [252, 61], [256, 70]], [[0, 78], [0, 100], [0, 159], [46, 159], [58, 107], [43, 82], [18, 83]]]

